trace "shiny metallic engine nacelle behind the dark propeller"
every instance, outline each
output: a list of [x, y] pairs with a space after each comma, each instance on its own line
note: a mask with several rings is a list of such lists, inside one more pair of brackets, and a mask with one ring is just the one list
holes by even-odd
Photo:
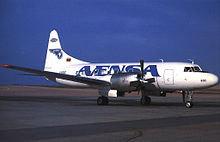
[[134, 91], [136, 87], [130, 86], [132, 81], [137, 81], [136, 73], [118, 73], [111, 77], [111, 89], [122, 92]]

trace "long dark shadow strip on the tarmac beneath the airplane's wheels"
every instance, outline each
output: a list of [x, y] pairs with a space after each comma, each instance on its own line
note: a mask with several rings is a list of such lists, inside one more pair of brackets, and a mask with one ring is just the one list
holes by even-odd
[[[40, 103], [64, 103], [72, 106], [97, 106], [95, 97], [27, 97], [27, 96], [0, 96], [0, 101], [17, 101], [17, 102], [40, 102]], [[137, 99], [114, 99], [109, 100], [107, 106], [134, 106], [134, 107], [184, 107], [182, 102], [151, 102], [150, 105], [141, 105]], [[195, 107], [220, 107], [219, 102], [203, 101], [203, 102], [194, 102]]]

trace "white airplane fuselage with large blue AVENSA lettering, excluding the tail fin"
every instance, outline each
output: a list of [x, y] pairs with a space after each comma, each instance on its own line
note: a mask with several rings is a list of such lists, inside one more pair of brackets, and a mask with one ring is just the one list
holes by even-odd
[[[214, 74], [202, 72], [198, 65], [181, 62], [150, 62], [144, 64], [144, 78], [154, 78], [155, 82], [152, 90], [195, 90], [208, 88], [218, 83], [218, 77]], [[193, 67], [197, 67], [194, 70]], [[191, 68], [186, 70], [185, 68]], [[199, 69], [199, 70], [198, 70]], [[58, 73], [69, 74], [75, 76], [89, 77], [108, 82], [112, 80], [112, 74], [120, 72], [140, 72], [139, 63], [87, 63], [78, 65], [68, 65], [57, 70]], [[127, 78], [118, 78], [117, 88], [112, 84], [112, 87], [121, 91], [133, 91], [130, 87], [130, 82], [137, 80], [137, 75], [129, 75]], [[56, 79], [56, 82], [75, 86], [75, 87], [90, 87], [83, 83]]]

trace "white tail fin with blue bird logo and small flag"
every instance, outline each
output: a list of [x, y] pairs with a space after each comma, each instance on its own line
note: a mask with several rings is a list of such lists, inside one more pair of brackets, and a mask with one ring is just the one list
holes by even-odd
[[80, 61], [66, 54], [61, 48], [60, 40], [56, 30], [50, 32], [44, 67], [45, 71], [59, 72], [60, 69], [67, 65], [87, 63], [88, 62]]

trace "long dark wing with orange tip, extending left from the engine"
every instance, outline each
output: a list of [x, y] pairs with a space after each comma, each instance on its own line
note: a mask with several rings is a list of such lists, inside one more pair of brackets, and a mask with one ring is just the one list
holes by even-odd
[[87, 77], [59, 74], [59, 73], [54, 73], [54, 72], [41, 71], [41, 70], [24, 68], [24, 67], [13, 66], [13, 65], [1, 65], [1, 67], [10, 68], [10, 69], [14, 69], [14, 70], [20, 70], [20, 71], [24, 71], [24, 72], [29, 72], [29, 73], [33, 73], [33, 74], [36, 74], [39, 76], [45, 76], [48, 78], [52, 77], [52, 78], [60, 78], [60, 79], [80, 82], [80, 83], [84, 83], [84, 84], [88, 84], [88, 85], [95, 85], [95, 86], [109, 86], [110, 85], [110, 83], [107, 81], [92, 79], [92, 78], [87, 78]]

